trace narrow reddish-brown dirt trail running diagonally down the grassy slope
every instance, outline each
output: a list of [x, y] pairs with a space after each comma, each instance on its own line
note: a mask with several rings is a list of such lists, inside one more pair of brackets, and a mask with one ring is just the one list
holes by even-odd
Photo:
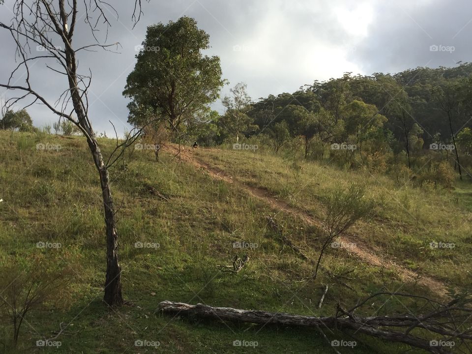
[[[178, 148], [172, 145], [167, 145], [165, 149], [175, 155], [178, 153]], [[278, 209], [283, 211], [284, 213], [290, 214], [297, 218], [302, 219], [305, 223], [312, 226], [317, 226], [323, 228], [322, 223], [312, 218], [311, 216], [307, 215], [304, 211], [297, 209], [296, 207], [290, 206], [288, 203], [278, 200], [273, 197], [266, 189], [264, 188], [255, 188], [249, 185], [238, 181], [237, 179], [230, 176], [225, 171], [208, 165], [206, 162], [199, 160], [195, 157], [192, 153], [191, 148], [180, 149], [180, 159], [191, 165], [195, 166], [196, 168], [205, 170], [211, 177], [219, 180], [224, 180], [228, 183], [232, 183], [237, 185], [241, 189], [244, 189], [252, 196], [264, 201], [270, 207], [274, 209]], [[402, 266], [395, 264], [392, 261], [382, 260], [379, 256], [377, 256], [373, 250], [370, 249], [365, 243], [362, 243], [354, 234], [345, 233], [344, 236], [338, 237], [338, 241], [343, 243], [349, 243], [350, 247], [345, 248], [349, 253], [356, 255], [358, 258], [362, 259], [363, 261], [373, 265], [373, 266], [385, 266], [387, 268], [391, 268], [396, 270], [396, 272], [402, 277], [404, 281], [414, 281], [417, 280], [418, 284], [423, 285], [434, 293], [441, 297], [446, 297], [447, 290], [440, 281], [433, 279], [431, 277], [421, 275], [418, 276], [415, 272], [410, 269], [406, 269]]]

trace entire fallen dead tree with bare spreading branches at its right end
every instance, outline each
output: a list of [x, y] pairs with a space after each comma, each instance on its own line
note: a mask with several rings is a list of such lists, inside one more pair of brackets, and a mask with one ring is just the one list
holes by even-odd
[[[327, 287], [326, 287], [327, 289]], [[424, 314], [392, 314], [390, 316], [354, 315], [354, 310], [376, 296], [416, 297], [425, 301]], [[342, 331], [363, 333], [386, 341], [404, 343], [430, 353], [450, 353], [447, 346], [437, 346], [431, 342], [431, 335], [437, 341], [454, 342], [454, 347], [470, 348], [472, 342], [472, 307], [470, 295], [456, 295], [442, 304], [424, 296], [381, 292], [369, 296], [350, 311], [339, 304], [335, 316], [300, 316], [287, 313], [272, 313], [259, 310], [242, 310], [231, 307], [213, 307], [204, 304], [190, 305], [182, 302], [162, 301], [159, 311], [165, 314], [201, 317], [218, 321], [246, 322], [253, 324], [279, 324], [287, 326], [327, 327]], [[321, 303], [321, 301], [320, 301]], [[403, 329], [402, 329], [403, 328]], [[459, 349], [460, 350], [460, 349]]]

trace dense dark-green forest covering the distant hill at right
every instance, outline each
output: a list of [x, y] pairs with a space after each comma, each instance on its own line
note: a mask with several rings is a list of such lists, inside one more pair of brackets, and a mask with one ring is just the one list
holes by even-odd
[[[315, 81], [293, 93], [269, 95], [249, 103], [245, 109], [249, 119], [244, 121], [239, 132], [250, 137], [285, 122], [292, 136], [307, 134], [312, 138], [319, 135], [321, 140], [342, 142], [356, 133], [357, 123], [362, 125], [362, 114], [366, 115], [366, 121], [361, 129], [371, 129], [369, 119], [379, 120], [379, 117], [373, 117], [378, 114], [386, 118], [377, 125], [383, 131], [383, 138], [390, 140], [390, 145], [393, 140], [406, 145], [412, 133], [422, 139], [425, 148], [432, 143], [449, 143], [452, 140], [450, 124], [455, 135], [472, 125], [471, 73], [472, 63], [454, 68], [418, 67], [394, 75], [352, 76], [346, 73], [342, 78]], [[357, 112], [352, 111], [354, 102], [358, 105]], [[307, 124], [303, 127], [300, 120], [304, 111], [315, 117], [309, 121], [305, 119]], [[368, 113], [373, 113], [372, 117]], [[358, 121], [354, 122], [355, 119]], [[228, 128], [227, 117], [220, 117], [220, 120], [222, 122], [217, 123], [220, 135], [215, 138], [217, 144], [236, 131], [231, 126]]]

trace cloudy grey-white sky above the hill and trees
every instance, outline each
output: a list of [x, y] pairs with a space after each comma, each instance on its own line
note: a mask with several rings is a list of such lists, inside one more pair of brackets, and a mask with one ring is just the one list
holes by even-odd
[[[395, 73], [417, 66], [455, 66], [472, 56], [470, 0], [150, 0], [143, 1], [144, 15], [134, 29], [131, 2], [114, 5], [118, 18], [108, 13], [108, 43], [119, 42], [119, 54], [98, 51], [79, 56], [82, 72], [92, 71], [90, 119], [97, 132], [109, 136], [109, 120], [119, 132], [128, 127], [128, 101], [121, 92], [147, 26], [183, 15], [195, 18], [209, 33], [207, 54], [220, 57], [230, 87], [247, 83], [253, 100], [293, 92], [346, 71]], [[1, 22], [10, 21], [12, 9], [13, 0], [0, 5]], [[76, 47], [90, 43], [89, 34], [82, 24], [76, 31]], [[15, 46], [3, 29], [0, 42], [0, 82], [5, 83], [16, 66]], [[64, 78], [51, 72], [44, 60], [31, 66], [33, 88], [54, 102], [65, 89]], [[23, 84], [22, 73], [13, 82]], [[225, 87], [222, 96], [228, 91]], [[13, 93], [0, 90], [0, 95]], [[213, 107], [222, 112], [221, 103]], [[28, 111], [37, 126], [57, 120], [40, 105]]]

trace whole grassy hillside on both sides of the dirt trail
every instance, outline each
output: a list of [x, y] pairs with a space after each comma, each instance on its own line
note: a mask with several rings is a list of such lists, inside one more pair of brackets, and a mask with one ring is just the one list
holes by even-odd
[[[100, 143], [105, 155], [115, 144], [108, 139]], [[55, 145], [55, 149], [37, 149], [36, 144]], [[156, 163], [152, 151], [135, 150], [126, 156], [125, 167], [118, 165], [111, 171], [119, 207], [123, 292], [130, 305], [109, 310], [101, 302], [105, 278], [101, 196], [85, 140], [0, 131], [2, 271], [18, 268], [21, 273], [29, 260], [39, 258], [51, 269], [67, 267], [70, 279], [68, 284], [63, 281], [61, 288], [68, 292], [59, 304], [49, 301], [40, 311], [26, 316], [17, 351], [10, 347], [12, 329], [5, 319], [5, 308], [1, 309], [1, 353], [253, 350], [233, 346], [235, 340], [257, 341], [254, 351], [258, 353], [329, 353], [332, 349], [316, 330], [181, 320], [162, 316], [156, 309], [160, 301], [172, 300], [321, 316], [333, 315], [337, 303], [349, 307], [379, 289], [437, 296], [434, 289], [405, 281], [393, 268], [373, 266], [336, 248], [323, 259], [329, 272], [322, 271], [316, 281], [303, 281], [313, 273], [313, 264], [281, 244], [267, 227], [265, 216], [273, 216], [284, 226], [284, 234], [313, 258], [320, 249], [316, 227], [255, 198], [240, 184], [214, 178], [185, 160], [178, 162], [172, 151], [163, 151]], [[311, 163], [294, 165], [283, 156], [204, 148], [185, 153], [320, 220], [324, 218], [325, 196], [352, 180], [366, 182], [369, 197], [379, 207], [372, 219], [353, 228], [359, 244], [445, 286], [471, 283], [472, 195], [466, 184], [453, 192], [424, 190], [369, 172]], [[452, 242], [455, 247], [431, 249], [429, 242], [435, 240]], [[236, 241], [257, 247], [235, 249]], [[60, 243], [60, 247], [39, 248], [38, 242]], [[136, 242], [151, 247], [136, 247]], [[249, 256], [247, 266], [236, 274], [221, 271], [220, 266], [230, 266], [236, 253]], [[339, 282], [335, 275], [346, 272], [349, 277]], [[319, 309], [324, 284], [330, 288]], [[0, 284], [1, 289], [6, 287], [8, 284]], [[416, 306], [413, 301], [400, 302], [394, 297], [384, 301], [372, 304], [372, 312], [377, 308], [381, 314], [414, 310]], [[70, 325], [57, 338], [60, 347], [36, 346], [37, 340], [54, 337], [61, 323]], [[352, 340], [346, 334], [322, 330], [329, 341]], [[408, 349], [355, 337], [356, 353], [402, 353]], [[140, 339], [158, 341], [159, 346], [135, 346]], [[338, 350], [352, 352], [350, 348]]]

